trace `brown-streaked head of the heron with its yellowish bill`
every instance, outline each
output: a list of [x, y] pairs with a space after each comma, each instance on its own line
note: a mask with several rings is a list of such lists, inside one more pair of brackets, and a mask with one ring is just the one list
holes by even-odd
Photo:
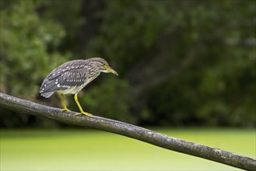
[[114, 75], [118, 75], [116, 71], [114, 71], [113, 68], [108, 65], [107, 61], [103, 58], [92, 58], [93, 59], [93, 65], [96, 65], [96, 68], [100, 70], [100, 72], [106, 72], [106, 73], [112, 73]]

